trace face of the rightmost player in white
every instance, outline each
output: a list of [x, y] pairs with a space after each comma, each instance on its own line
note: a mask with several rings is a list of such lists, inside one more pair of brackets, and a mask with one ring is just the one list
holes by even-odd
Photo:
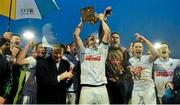
[[168, 58], [170, 54], [169, 46], [167, 44], [161, 44], [158, 49], [159, 56], [162, 58]]

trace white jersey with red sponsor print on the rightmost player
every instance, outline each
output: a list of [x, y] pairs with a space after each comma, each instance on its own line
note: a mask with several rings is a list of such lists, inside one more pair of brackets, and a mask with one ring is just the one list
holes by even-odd
[[175, 68], [180, 65], [179, 59], [169, 58], [161, 61], [159, 58], [154, 62], [154, 81], [158, 92], [158, 97], [162, 97], [165, 92], [165, 84], [171, 82]]

